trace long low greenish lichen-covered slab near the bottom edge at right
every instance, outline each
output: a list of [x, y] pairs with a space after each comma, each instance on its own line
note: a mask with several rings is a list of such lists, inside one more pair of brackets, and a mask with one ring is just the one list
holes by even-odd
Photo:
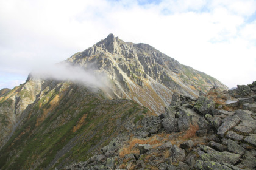
[[200, 160], [215, 161], [218, 163], [229, 163], [235, 165], [240, 161], [241, 155], [229, 152], [213, 152], [212, 154], [202, 154]]

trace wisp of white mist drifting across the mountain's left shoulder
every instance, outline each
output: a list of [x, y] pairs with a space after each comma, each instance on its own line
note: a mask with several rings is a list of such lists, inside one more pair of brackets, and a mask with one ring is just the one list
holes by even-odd
[[37, 68], [32, 71], [31, 75], [35, 78], [72, 81], [73, 83], [93, 88], [105, 87], [105, 84], [107, 84], [107, 76], [97, 72], [93, 65], [84, 68], [63, 62], [53, 66]]

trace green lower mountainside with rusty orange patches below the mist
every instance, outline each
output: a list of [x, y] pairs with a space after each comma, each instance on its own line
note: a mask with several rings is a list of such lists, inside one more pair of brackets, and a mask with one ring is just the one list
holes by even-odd
[[[34, 88], [38, 81], [40, 87]], [[35, 92], [34, 96], [27, 93], [29, 89]], [[108, 100], [101, 90], [54, 80], [29, 78], [7, 95], [8, 100], [20, 97], [13, 99], [10, 106], [17, 107], [19, 102], [18, 106], [29, 105], [24, 110], [11, 110], [16, 124], [6, 121], [9, 125], [5, 126], [13, 126], [11, 134], [1, 129], [9, 140], [0, 151], [0, 169], [54, 169], [73, 160], [86, 160], [125, 131], [129, 120], [148, 110], [130, 100]], [[1, 107], [10, 108], [6, 106], [8, 102], [4, 101]]]

